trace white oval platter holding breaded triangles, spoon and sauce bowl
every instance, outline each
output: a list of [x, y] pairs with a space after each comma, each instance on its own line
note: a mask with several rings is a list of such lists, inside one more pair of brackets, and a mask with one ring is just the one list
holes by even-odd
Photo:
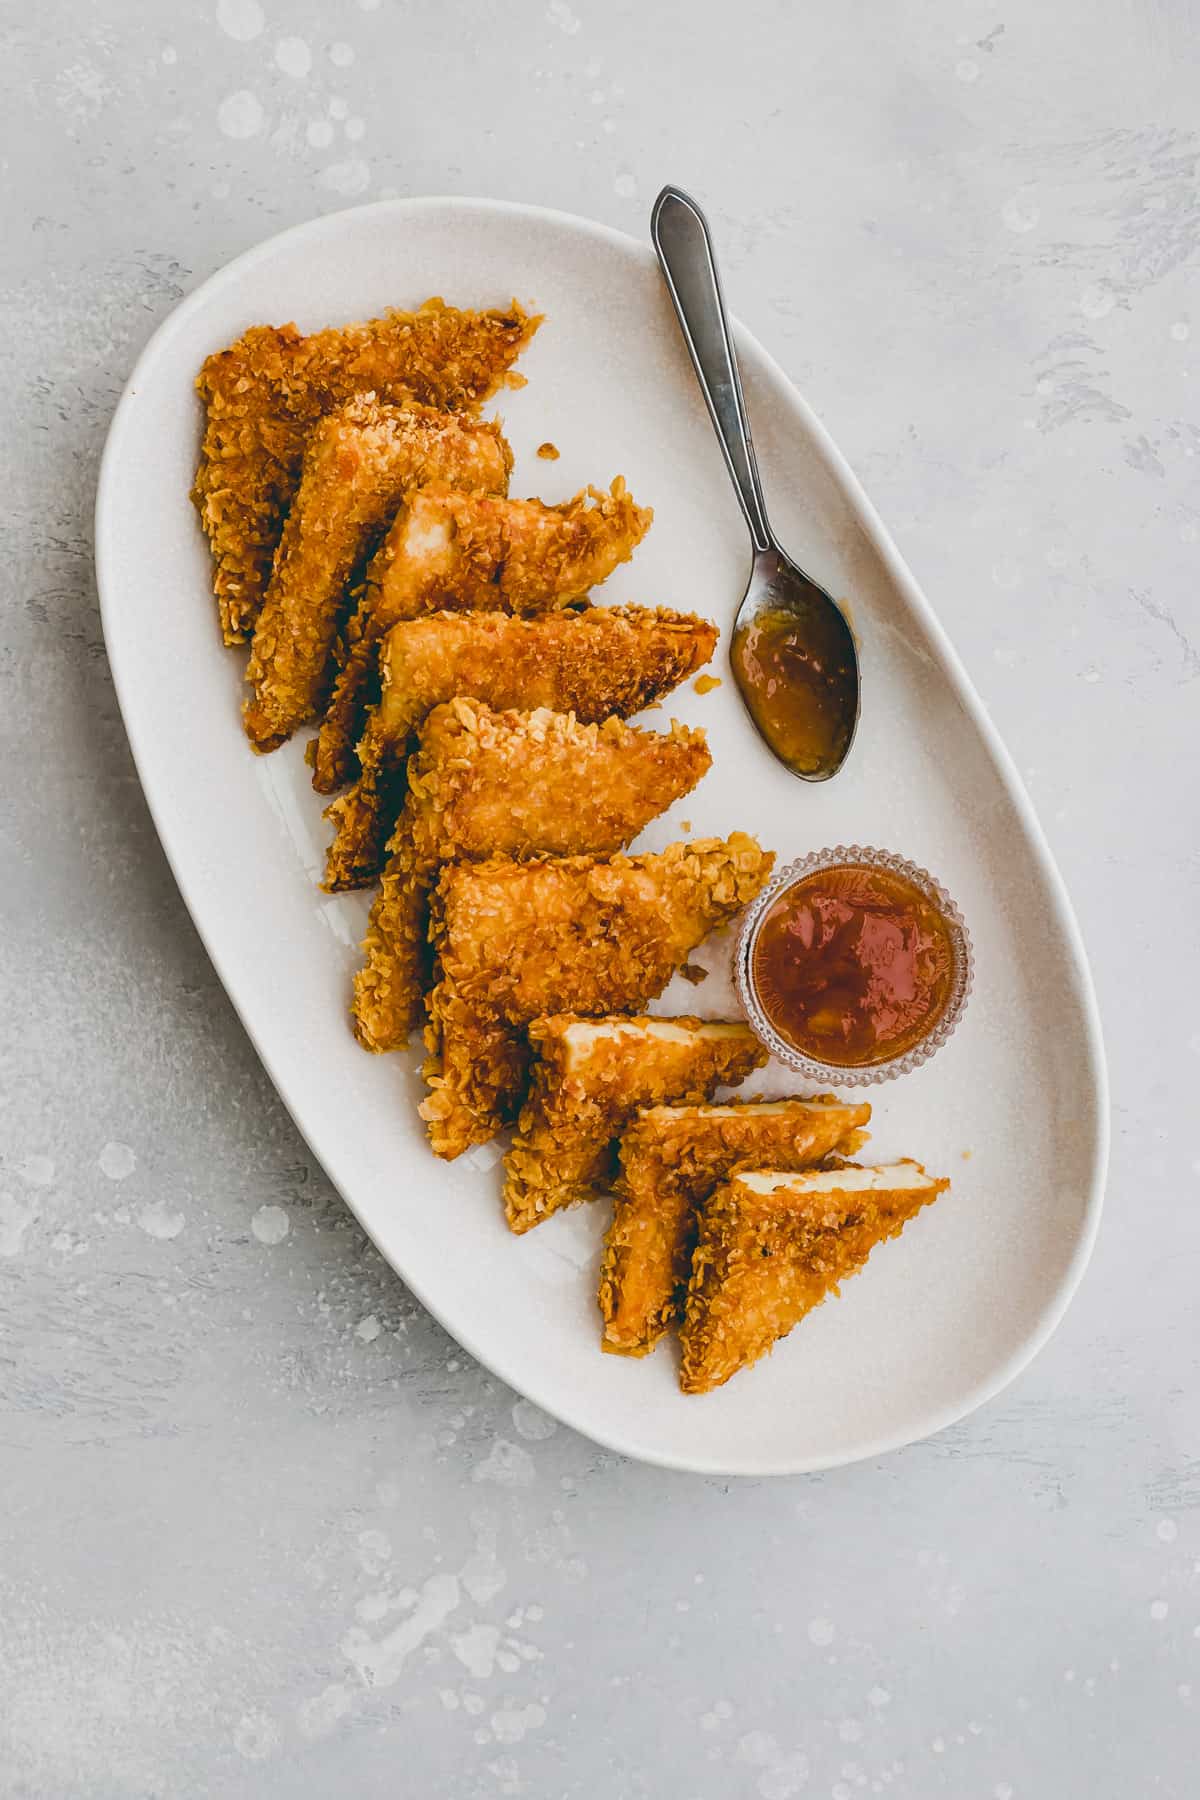
[[[631, 565], [597, 596], [721, 625], [714, 671], [662, 715], [703, 724], [714, 767], [644, 833], [743, 828], [781, 860], [878, 844], [932, 869], [963, 907], [975, 992], [923, 1069], [869, 1091], [869, 1156], [914, 1156], [952, 1192], [779, 1345], [703, 1399], [673, 1350], [601, 1355], [596, 1267], [606, 1202], [509, 1237], [491, 1152], [439, 1163], [416, 1114], [416, 1057], [363, 1055], [347, 992], [367, 904], [317, 889], [326, 828], [302, 743], [254, 758], [239, 729], [241, 653], [219, 644], [187, 493], [200, 441], [193, 378], [255, 322], [302, 329], [412, 306], [536, 304], [547, 322], [504, 394], [513, 493], [561, 499], [622, 473], [655, 508]], [[763, 481], [790, 553], [851, 605], [864, 711], [826, 787], [784, 774], [727, 670], [747, 533], [653, 254], [534, 207], [396, 200], [336, 212], [241, 256], [158, 329], [126, 387], [97, 497], [104, 639], [146, 799], [184, 900], [297, 1127], [389, 1264], [466, 1350], [599, 1444], [720, 1474], [826, 1469], [961, 1418], [1045, 1343], [1083, 1273], [1101, 1208], [1108, 1105], [1083, 947], [1042, 832], [928, 603], [842, 455], [772, 358], [738, 331]], [[558, 463], [538, 461], [552, 439]], [[658, 1012], [721, 1015], [712, 976]], [[786, 1093], [783, 1071], [752, 1084]]]

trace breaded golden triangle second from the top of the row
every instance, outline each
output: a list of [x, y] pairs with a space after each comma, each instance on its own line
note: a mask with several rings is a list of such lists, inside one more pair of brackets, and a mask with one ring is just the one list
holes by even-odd
[[371, 394], [313, 427], [246, 666], [255, 751], [273, 751], [320, 713], [347, 589], [405, 493], [434, 479], [504, 493], [511, 466], [498, 425], [383, 407]]

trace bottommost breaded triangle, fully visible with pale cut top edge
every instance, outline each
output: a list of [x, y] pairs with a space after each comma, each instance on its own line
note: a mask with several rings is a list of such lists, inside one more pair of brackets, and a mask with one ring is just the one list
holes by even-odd
[[718, 1188], [687, 1283], [684, 1393], [709, 1393], [757, 1363], [948, 1186], [903, 1161], [747, 1172]]

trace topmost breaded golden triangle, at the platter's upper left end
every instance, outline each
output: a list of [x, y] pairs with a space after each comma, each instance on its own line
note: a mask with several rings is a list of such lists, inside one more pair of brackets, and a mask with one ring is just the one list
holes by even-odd
[[473, 412], [540, 324], [516, 301], [489, 313], [426, 301], [416, 313], [311, 337], [295, 326], [254, 326], [209, 356], [196, 376], [205, 434], [193, 500], [212, 545], [227, 644], [246, 643], [254, 630], [315, 421], [371, 392], [394, 405]]

